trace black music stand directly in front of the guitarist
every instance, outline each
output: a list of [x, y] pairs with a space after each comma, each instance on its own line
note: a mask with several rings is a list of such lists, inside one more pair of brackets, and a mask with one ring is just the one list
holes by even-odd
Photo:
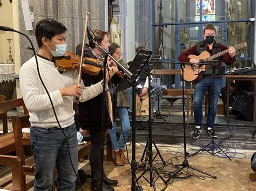
[[[225, 67], [220, 67], [221, 62], [218, 61], [218, 60], [211, 60], [211, 61], [204, 61], [204, 62], [205, 62], [204, 65], [206, 66], [204, 75], [209, 74], [209, 75], [213, 76], [213, 86], [214, 86], [215, 75], [224, 75], [225, 74]], [[198, 75], [201, 75], [201, 74], [198, 73]], [[212, 109], [214, 110], [214, 102], [212, 102]], [[214, 118], [213, 115], [214, 115], [214, 112], [212, 112], [212, 118]], [[214, 122], [213, 122], [212, 130], [213, 130], [213, 133], [214, 133]], [[207, 149], [207, 147], [210, 146], [211, 144], [212, 144], [212, 148]], [[214, 153], [214, 148], [219, 149], [219, 151]], [[207, 151], [208, 153], [210, 153], [212, 155], [217, 154], [219, 152], [223, 152], [226, 155], [226, 157], [231, 160], [231, 158], [228, 157], [228, 155], [219, 147], [219, 145], [214, 142], [214, 136], [212, 136], [212, 140], [209, 144], [207, 144], [206, 146], [204, 146], [203, 148], [201, 148], [199, 151], [197, 151], [194, 154], [197, 154], [200, 151], [202, 151], [202, 152]], [[210, 152], [210, 151], [212, 151], [212, 152]]]

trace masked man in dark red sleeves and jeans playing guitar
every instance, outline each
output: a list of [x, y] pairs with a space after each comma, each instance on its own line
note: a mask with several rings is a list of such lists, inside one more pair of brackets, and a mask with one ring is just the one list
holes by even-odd
[[[216, 29], [214, 25], [207, 24], [204, 28], [204, 40], [200, 41], [196, 45], [192, 46], [190, 49], [185, 51], [179, 56], [179, 61], [181, 62], [190, 62], [192, 63], [191, 67], [198, 68], [198, 63], [200, 59], [195, 59], [196, 56], [200, 55], [203, 52], [208, 52], [210, 55], [217, 54], [221, 51], [227, 49], [226, 46], [217, 44], [214, 40], [216, 34]], [[196, 55], [194, 58], [191, 55]], [[224, 61], [226, 65], [232, 65], [235, 61], [235, 48], [229, 47], [228, 52], [223, 54], [214, 60]], [[185, 74], [184, 74], [185, 76]], [[222, 76], [221, 75], [205, 75], [203, 78], [196, 83], [194, 87], [194, 124], [195, 130], [193, 132], [192, 137], [194, 139], [199, 138], [200, 131], [203, 129], [203, 110], [202, 103], [204, 101], [204, 95], [208, 90], [209, 94], [209, 110], [207, 114], [207, 123], [206, 123], [206, 133], [211, 137], [218, 137], [218, 135], [213, 131], [213, 124], [215, 120], [215, 116], [217, 114], [217, 105], [219, 100], [219, 94], [222, 84]], [[214, 105], [214, 108], [213, 108]]]

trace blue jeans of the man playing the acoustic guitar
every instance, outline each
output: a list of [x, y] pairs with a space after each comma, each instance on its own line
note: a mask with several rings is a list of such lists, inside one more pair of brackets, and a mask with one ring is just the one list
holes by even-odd
[[204, 77], [194, 87], [194, 124], [196, 126], [203, 125], [203, 109], [202, 104], [204, 96], [208, 90], [209, 109], [207, 114], [206, 128], [212, 128], [217, 114], [217, 106], [222, 86], [222, 78]]

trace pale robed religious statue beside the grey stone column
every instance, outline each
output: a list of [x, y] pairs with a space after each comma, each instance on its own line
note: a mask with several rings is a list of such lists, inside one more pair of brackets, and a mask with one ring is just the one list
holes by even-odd
[[109, 28], [110, 42], [118, 44], [122, 49], [122, 30], [118, 24], [118, 18], [113, 17]]

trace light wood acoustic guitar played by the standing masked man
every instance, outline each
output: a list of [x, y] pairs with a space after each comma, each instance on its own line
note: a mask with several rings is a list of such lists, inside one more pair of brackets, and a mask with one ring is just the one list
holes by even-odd
[[[245, 47], [247, 47], [246, 42], [243, 42], [239, 45], [234, 46], [235, 49], [241, 49]], [[219, 56], [226, 54], [227, 52], [228, 52], [228, 49], [225, 49], [225, 51], [221, 51], [211, 56], [210, 53], [208, 53], [207, 51], [204, 51], [198, 56], [191, 54], [191, 55], [188, 55], [187, 57], [191, 59], [197, 59], [200, 61], [199, 63], [204, 63], [210, 60], [214, 60], [215, 58], [218, 58]], [[198, 82], [203, 78], [204, 72], [205, 72], [205, 65], [199, 64], [199, 66], [194, 66], [193, 63], [191, 64], [186, 63], [184, 68], [184, 80], [188, 82]]]

